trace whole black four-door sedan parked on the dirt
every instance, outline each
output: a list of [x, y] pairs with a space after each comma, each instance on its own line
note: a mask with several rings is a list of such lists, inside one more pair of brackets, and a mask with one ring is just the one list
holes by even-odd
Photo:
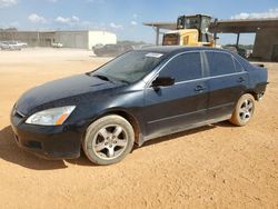
[[18, 145], [52, 159], [118, 162], [135, 143], [224, 120], [247, 125], [267, 70], [212, 48], [155, 47], [27, 91], [11, 111]]

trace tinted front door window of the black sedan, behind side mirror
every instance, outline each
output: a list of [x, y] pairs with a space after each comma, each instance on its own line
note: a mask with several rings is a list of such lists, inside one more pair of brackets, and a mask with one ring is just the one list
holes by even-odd
[[202, 77], [199, 52], [183, 53], [173, 58], [159, 73], [160, 77], [171, 77], [176, 82], [199, 79]]

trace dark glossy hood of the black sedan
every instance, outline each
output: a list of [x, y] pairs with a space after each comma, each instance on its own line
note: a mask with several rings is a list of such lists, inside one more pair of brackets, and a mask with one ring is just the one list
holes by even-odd
[[[17, 101], [17, 110], [28, 115], [33, 109], [58, 100], [120, 87], [122, 83], [105, 81], [87, 74], [54, 80], [30, 89]], [[72, 104], [72, 103], [71, 103]], [[67, 106], [67, 104], [66, 104]]]

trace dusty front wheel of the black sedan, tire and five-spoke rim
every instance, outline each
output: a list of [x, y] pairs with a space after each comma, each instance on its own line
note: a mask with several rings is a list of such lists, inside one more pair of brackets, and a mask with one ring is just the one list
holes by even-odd
[[82, 142], [87, 158], [95, 165], [112, 165], [121, 161], [133, 148], [132, 126], [117, 115], [106, 116], [92, 122]]

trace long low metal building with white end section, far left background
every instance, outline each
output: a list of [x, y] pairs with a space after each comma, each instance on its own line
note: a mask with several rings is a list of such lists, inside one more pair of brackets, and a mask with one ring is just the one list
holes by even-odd
[[117, 36], [107, 31], [0, 31], [0, 41], [20, 40], [29, 47], [51, 47], [61, 42], [64, 48], [92, 49], [96, 44], [115, 44]]

